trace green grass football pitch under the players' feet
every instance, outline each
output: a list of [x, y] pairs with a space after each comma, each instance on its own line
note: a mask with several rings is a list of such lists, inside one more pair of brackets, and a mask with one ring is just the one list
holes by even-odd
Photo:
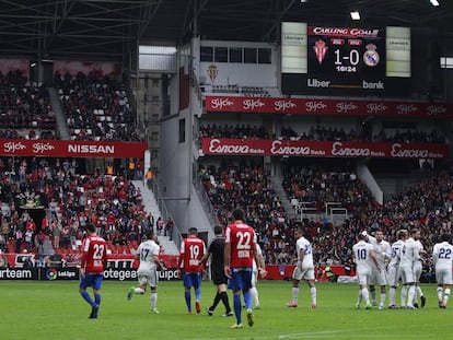
[[[453, 314], [440, 309], [435, 285], [422, 285], [427, 306], [418, 310], [356, 309], [358, 289], [353, 284], [318, 283], [316, 309], [301, 285], [299, 307], [288, 308], [291, 284], [286, 281], [258, 282], [262, 309], [255, 310], [255, 325], [230, 329], [234, 317], [220, 317], [220, 303], [213, 316], [206, 307], [214, 288], [204, 281], [201, 314], [186, 315], [181, 281], [163, 281], [159, 286], [161, 314], [151, 314], [149, 292], [127, 301], [131, 282], [105, 281], [98, 319], [89, 319], [90, 306], [78, 292], [78, 282], [0, 283], [0, 340], [140, 340], [140, 339], [448, 339]], [[232, 303], [231, 293], [230, 302]], [[397, 296], [399, 304], [399, 295]], [[453, 308], [453, 303], [452, 303]]]

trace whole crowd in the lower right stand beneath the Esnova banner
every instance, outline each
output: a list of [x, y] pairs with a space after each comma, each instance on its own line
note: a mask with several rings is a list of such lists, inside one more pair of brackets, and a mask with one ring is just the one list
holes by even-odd
[[[294, 192], [305, 192], [306, 199], [342, 201], [348, 209], [348, 218], [341, 223], [334, 223], [320, 211], [316, 219], [289, 220], [268, 172], [253, 163], [233, 164], [230, 160], [219, 167], [199, 168], [199, 177], [220, 223], [231, 221], [230, 213], [235, 207], [244, 208], [247, 222], [257, 232], [267, 263], [292, 263], [295, 257], [295, 227], [303, 227], [310, 235], [316, 263], [328, 266], [350, 266], [352, 245], [361, 231], [367, 230], [372, 235], [376, 230], [382, 230], [392, 243], [397, 230], [419, 228], [428, 251], [428, 271], [432, 267], [430, 253], [440, 234], [453, 232], [453, 169], [431, 174], [425, 181], [394, 196], [384, 206], [373, 201], [352, 172], [325, 172], [321, 166], [293, 166], [291, 172], [286, 171], [287, 175], [291, 174], [286, 179], [293, 180], [292, 185], [299, 178]], [[300, 189], [301, 184], [306, 188]]]

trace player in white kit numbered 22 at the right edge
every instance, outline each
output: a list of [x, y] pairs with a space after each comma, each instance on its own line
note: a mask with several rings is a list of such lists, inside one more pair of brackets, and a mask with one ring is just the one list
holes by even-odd
[[450, 286], [453, 283], [453, 246], [450, 244], [450, 235], [442, 234], [441, 242], [434, 245], [432, 260], [435, 265], [435, 279], [438, 281], [439, 308], [446, 308], [450, 297]]

